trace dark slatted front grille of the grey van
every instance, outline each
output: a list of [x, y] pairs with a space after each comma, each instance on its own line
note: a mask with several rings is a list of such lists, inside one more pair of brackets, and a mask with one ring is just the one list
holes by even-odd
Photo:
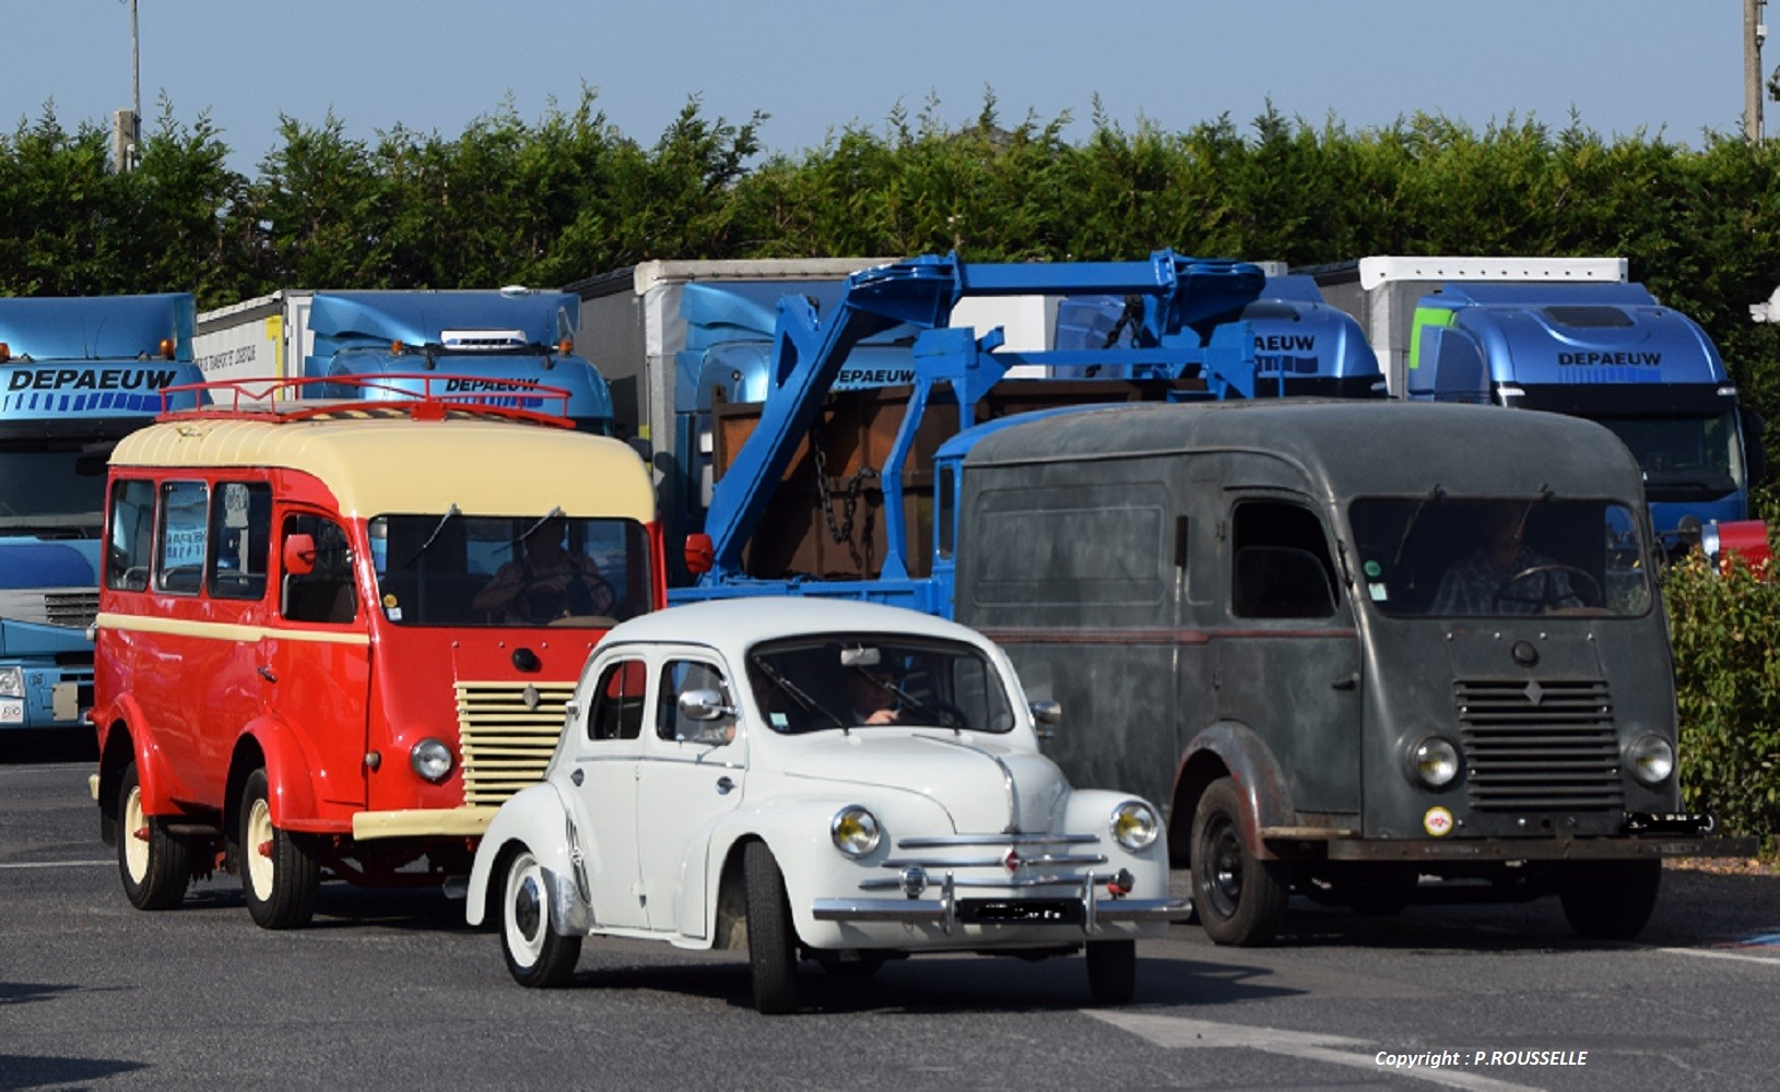
[[1479, 811], [1625, 806], [1613, 699], [1602, 679], [1461, 681], [1465, 795]]

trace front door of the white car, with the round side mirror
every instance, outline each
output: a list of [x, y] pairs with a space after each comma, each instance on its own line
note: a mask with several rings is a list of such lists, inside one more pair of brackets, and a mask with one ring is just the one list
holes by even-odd
[[[653, 731], [637, 765], [637, 855], [651, 930], [705, 935], [710, 829], [742, 799], [746, 740], [723, 663], [701, 649], [673, 651], [655, 670]], [[716, 692], [732, 710], [714, 720], [680, 711], [689, 690]]]

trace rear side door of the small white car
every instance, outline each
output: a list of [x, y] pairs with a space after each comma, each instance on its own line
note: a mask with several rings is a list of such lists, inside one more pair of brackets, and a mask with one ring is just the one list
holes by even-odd
[[607, 654], [595, 662], [584, 692], [582, 738], [575, 747], [575, 823], [593, 895], [593, 919], [611, 928], [644, 928], [643, 880], [637, 873], [637, 759], [648, 699], [643, 653]]

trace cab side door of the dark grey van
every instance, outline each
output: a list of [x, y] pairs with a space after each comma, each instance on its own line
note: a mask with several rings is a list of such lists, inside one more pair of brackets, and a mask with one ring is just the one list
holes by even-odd
[[1219, 720], [1251, 727], [1299, 811], [1360, 809], [1362, 656], [1330, 535], [1282, 491], [1226, 493]]

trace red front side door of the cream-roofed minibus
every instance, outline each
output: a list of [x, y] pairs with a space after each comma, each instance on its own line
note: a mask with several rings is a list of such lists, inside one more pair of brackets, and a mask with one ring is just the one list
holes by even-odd
[[276, 519], [279, 622], [262, 640], [262, 694], [304, 735], [320, 799], [363, 807], [370, 638], [351, 539], [322, 512], [281, 507]]

